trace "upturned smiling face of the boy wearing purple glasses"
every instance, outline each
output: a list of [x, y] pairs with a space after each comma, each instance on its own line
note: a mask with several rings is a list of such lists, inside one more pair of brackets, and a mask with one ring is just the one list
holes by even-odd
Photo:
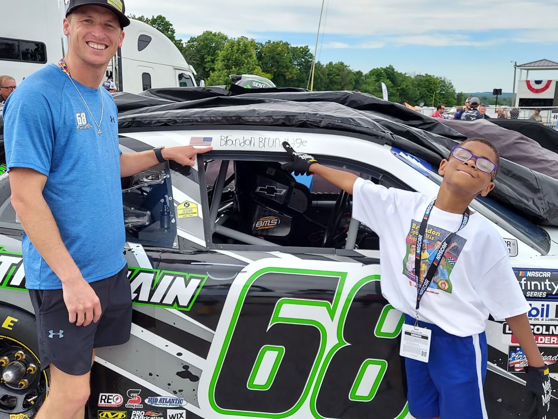
[[[460, 147], [497, 164], [494, 150], [482, 142], [469, 141], [461, 144]], [[492, 182], [494, 174], [484, 173], [482, 170], [479, 170], [477, 168], [477, 161], [474, 158], [469, 161], [460, 161], [454, 156], [450, 156], [449, 159], [441, 161], [438, 173], [444, 177], [443, 182], [451, 185], [453, 189], [463, 191], [467, 196], [475, 197], [479, 193], [482, 196], [487, 196], [494, 188], [494, 183]]]

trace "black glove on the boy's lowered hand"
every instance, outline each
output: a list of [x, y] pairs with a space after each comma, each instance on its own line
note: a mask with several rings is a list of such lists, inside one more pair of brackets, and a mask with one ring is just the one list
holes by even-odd
[[549, 367], [527, 366], [527, 419], [545, 419], [550, 409], [550, 386]]

